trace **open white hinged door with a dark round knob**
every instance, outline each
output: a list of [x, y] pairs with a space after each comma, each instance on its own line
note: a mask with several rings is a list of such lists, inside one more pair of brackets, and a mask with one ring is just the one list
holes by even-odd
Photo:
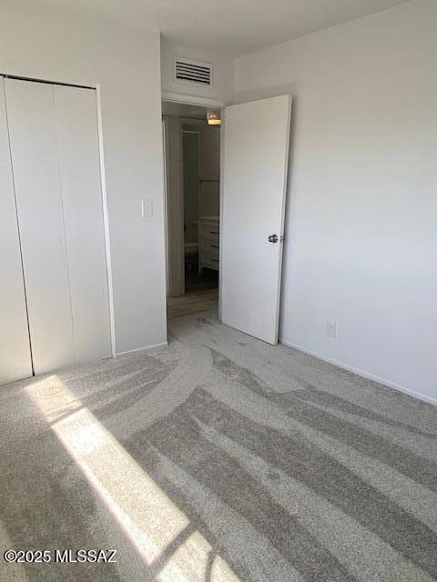
[[278, 343], [291, 95], [225, 108], [221, 320]]

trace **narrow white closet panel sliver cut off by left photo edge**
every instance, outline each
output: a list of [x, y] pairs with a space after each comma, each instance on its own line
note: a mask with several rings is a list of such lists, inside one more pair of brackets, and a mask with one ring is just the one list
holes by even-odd
[[0, 77], [0, 384], [32, 376], [25, 286]]

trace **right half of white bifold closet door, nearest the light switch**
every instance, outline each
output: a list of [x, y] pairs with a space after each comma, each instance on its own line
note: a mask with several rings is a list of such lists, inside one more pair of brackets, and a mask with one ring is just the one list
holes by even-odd
[[96, 92], [54, 86], [77, 362], [111, 357]]

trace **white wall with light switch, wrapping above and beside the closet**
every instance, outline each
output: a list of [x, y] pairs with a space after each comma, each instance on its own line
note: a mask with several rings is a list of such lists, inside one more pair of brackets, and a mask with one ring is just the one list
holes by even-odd
[[0, 73], [100, 85], [118, 353], [167, 338], [159, 68], [156, 32], [2, 0]]

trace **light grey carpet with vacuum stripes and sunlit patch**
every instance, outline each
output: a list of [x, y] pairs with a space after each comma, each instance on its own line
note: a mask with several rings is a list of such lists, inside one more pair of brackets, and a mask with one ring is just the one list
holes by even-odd
[[[176, 302], [170, 344], [0, 389], [1, 580], [437, 579], [437, 409]], [[196, 303], [196, 301], [194, 302]]]

